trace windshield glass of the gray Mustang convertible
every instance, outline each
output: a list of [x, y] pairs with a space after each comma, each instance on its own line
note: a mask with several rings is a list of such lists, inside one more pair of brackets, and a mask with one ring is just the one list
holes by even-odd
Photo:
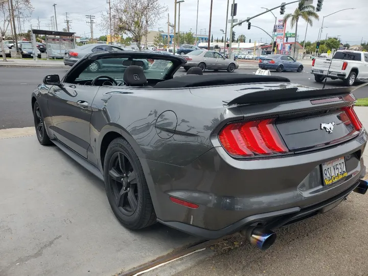
[[[123, 64], [128, 58], [103, 58], [96, 60], [89, 65], [85, 70], [76, 78], [76, 80], [94, 79], [99, 75], [107, 75], [118, 82], [123, 80], [125, 69], [127, 64]], [[164, 59], [129, 59], [136, 65], [143, 65], [143, 72], [147, 79], [164, 79], [166, 73], [172, 68], [173, 63]], [[133, 65], [133, 64], [132, 64]]]

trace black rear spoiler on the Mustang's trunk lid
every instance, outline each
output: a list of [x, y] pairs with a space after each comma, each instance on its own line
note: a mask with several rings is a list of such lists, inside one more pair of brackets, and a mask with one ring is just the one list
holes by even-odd
[[285, 89], [271, 89], [271, 90], [259, 90], [252, 93], [247, 93], [239, 96], [231, 101], [223, 101], [227, 105], [236, 104], [256, 104], [256, 103], [269, 103], [269, 102], [280, 102], [288, 100], [302, 100], [308, 98], [319, 98], [336, 95], [347, 95], [352, 93], [354, 90], [367, 85], [363, 83], [355, 87], [338, 87], [328, 89], [312, 89], [298, 91], [297, 87], [285, 88]]

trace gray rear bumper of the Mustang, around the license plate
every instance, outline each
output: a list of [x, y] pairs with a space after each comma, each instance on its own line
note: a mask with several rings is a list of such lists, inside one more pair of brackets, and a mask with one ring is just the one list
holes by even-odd
[[[365, 174], [366, 142], [363, 130], [345, 143], [277, 159], [236, 160], [215, 146], [186, 167], [146, 160], [158, 221], [214, 239], [245, 228], [255, 219], [268, 224], [283, 215], [297, 215], [290, 220], [305, 217], [308, 210], [324, 208], [355, 188]], [[324, 186], [320, 165], [341, 156], [346, 157], [348, 176]], [[165, 176], [159, 173], [163, 171]], [[199, 208], [175, 204], [170, 196]]]

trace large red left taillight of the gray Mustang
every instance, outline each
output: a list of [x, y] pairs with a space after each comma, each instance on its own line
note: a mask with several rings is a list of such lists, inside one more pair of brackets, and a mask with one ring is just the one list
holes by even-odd
[[224, 149], [235, 157], [288, 152], [274, 119], [228, 124], [220, 131], [219, 140]]

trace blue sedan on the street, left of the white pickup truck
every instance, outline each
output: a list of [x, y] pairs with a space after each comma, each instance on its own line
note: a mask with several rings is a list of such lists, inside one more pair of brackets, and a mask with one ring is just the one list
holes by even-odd
[[261, 69], [283, 71], [303, 71], [303, 64], [286, 55], [269, 55], [259, 60], [258, 67]]

